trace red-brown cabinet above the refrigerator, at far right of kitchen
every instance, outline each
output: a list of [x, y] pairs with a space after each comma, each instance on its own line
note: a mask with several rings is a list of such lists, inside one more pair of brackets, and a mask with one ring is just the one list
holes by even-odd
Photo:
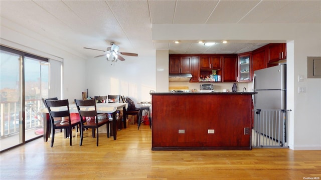
[[268, 62], [286, 59], [286, 43], [271, 43], [268, 46]]

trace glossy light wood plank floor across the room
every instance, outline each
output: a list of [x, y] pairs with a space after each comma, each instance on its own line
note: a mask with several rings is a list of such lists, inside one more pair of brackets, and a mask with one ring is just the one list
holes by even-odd
[[1, 153], [0, 178], [321, 179], [321, 150], [151, 151], [148, 125], [119, 130], [117, 140], [102, 133], [97, 147], [87, 132], [83, 146], [79, 132], [74, 132], [73, 146], [58, 132], [53, 147], [40, 138]]

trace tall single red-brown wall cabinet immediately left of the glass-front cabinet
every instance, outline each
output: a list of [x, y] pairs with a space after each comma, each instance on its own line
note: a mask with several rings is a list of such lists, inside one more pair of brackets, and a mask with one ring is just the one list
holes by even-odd
[[237, 55], [223, 56], [223, 82], [236, 82]]

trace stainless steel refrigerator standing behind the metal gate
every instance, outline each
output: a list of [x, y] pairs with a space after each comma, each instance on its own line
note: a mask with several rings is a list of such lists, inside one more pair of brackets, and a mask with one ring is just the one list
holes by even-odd
[[[260, 128], [260, 133], [278, 140], [284, 127], [280, 122], [282, 117], [279, 114], [274, 114], [278, 111], [272, 110], [286, 109], [286, 64], [255, 70], [253, 91], [257, 92], [253, 95], [254, 112], [257, 109], [266, 109], [264, 112], [273, 113], [264, 114], [262, 118], [266, 118], [267, 115], [268, 118], [261, 122], [255, 130]], [[257, 122], [256, 120], [254, 123]], [[256, 124], [254, 124], [255, 126]]]

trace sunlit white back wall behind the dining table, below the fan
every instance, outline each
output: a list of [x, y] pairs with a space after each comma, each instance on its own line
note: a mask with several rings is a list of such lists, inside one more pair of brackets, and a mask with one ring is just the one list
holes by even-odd
[[125, 56], [112, 65], [105, 57], [86, 61], [85, 84], [88, 95], [121, 94], [138, 101], [150, 101], [155, 90], [155, 56]]

